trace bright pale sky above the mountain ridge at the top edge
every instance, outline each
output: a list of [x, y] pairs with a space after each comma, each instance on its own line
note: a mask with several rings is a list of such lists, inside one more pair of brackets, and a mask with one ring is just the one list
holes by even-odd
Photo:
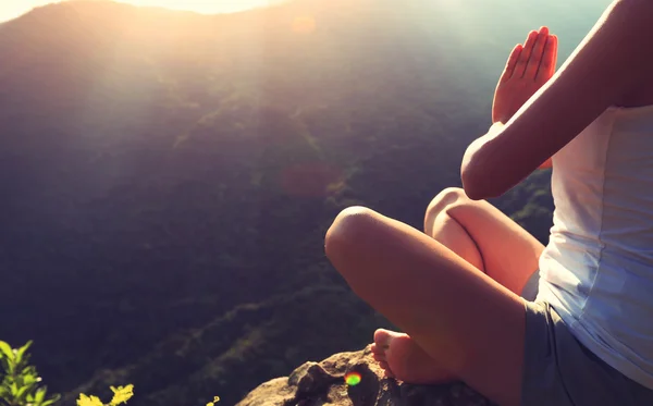
[[[0, 22], [15, 19], [35, 7], [58, 2], [56, 0], [0, 0]], [[205, 14], [233, 13], [281, 2], [280, 0], [120, 0], [136, 5], [156, 5], [190, 10]]]

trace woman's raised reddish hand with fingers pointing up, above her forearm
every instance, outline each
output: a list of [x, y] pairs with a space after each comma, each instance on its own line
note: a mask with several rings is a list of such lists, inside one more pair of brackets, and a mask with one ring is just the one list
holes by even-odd
[[549, 28], [529, 33], [526, 44], [510, 52], [498, 81], [492, 106], [492, 123], [506, 123], [554, 74], [557, 37]]

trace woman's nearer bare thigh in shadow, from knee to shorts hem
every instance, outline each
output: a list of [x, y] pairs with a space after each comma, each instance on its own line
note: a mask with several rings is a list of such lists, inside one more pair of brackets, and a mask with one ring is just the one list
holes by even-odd
[[444, 245], [369, 209], [343, 211], [326, 256], [352, 290], [490, 399], [517, 406], [525, 303]]

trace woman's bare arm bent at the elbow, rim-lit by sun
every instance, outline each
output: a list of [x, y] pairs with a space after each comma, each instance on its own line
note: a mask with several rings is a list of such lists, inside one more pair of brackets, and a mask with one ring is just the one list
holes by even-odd
[[653, 1], [617, 0], [560, 70], [505, 124], [473, 142], [460, 170], [472, 199], [501, 196], [653, 74]]

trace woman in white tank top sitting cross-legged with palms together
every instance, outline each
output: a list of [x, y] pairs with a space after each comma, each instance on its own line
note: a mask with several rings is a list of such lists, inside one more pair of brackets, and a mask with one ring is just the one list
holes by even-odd
[[[387, 376], [502, 406], [653, 404], [652, 47], [650, 0], [611, 4], [555, 74], [556, 37], [530, 33], [424, 233], [359, 207], [335, 219], [331, 262], [405, 332], [374, 334]], [[544, 247], [483, 199], [551, 163]]]

